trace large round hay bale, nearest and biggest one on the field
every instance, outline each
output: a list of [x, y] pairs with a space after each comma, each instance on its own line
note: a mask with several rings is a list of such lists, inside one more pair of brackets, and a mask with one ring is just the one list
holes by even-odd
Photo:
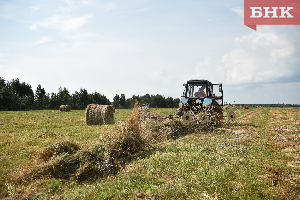
[[112, 105], [89, 104], [85, 109], [85, 124], [113, 124], [115, 123]]

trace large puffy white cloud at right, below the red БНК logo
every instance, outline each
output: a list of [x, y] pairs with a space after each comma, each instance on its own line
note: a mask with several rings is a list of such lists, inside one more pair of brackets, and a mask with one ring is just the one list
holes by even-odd
[[[278, 81], [296, 72], [294, 46], [274, 32], [253, 32], [237, 37], [235, 48], [222, 57], [228, 84]], [[296, 70], [296, 71], [295, 71]]]

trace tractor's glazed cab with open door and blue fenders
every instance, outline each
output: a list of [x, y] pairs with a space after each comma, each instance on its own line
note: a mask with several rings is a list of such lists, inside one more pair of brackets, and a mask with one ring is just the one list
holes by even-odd
[[205, 79], [191, 79], [183, 85], [185, 88], [179, 107], [184, 104], [197, 104], [204, 107], [223, 106], [222, 84], [212, 84]]

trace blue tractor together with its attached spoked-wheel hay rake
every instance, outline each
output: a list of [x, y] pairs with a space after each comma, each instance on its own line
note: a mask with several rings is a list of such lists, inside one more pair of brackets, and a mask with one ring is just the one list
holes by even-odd
[[211, 130], [215, 126], [241, 124], [243, 109], [235, 102], [223, 104], [222, 84], [211, 84], [205, 79], [192, 79], [184, 86], [184, 93], [175, 114], [151, 116], [150, 104], [145, 104], [140, 106], [140, 120], [177, 119], [188, 130]]

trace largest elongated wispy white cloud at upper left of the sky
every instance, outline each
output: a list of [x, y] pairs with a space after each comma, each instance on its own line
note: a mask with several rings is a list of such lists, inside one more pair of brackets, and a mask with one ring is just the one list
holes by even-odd
[[42, 21], [34, 22], [30, 26], [30, 30], [37, 30], [38, 27], [48, 29], [58, 29], [63, 32], [71, 32], [81, 28], [91, 19], [92, 15], [84, 15], [79, 17], [73, 17], [68, 15], [54, 15], [48, 17]]

